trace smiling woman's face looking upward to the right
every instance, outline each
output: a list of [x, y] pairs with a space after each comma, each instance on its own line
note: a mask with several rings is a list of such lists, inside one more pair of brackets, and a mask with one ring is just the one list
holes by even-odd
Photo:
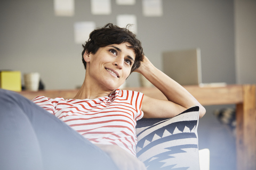
[[95, 54], [84, 54], [86, 77], [106, 90], [119, 88], [129, 77], [135, 53], [129, 43], [101, 47]]

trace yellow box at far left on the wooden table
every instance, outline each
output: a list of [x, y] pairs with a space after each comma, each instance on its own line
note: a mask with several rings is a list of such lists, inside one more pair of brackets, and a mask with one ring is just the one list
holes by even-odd
[[0, 88], [12, 91], [21, 91], [21, 72], [1, 71]]

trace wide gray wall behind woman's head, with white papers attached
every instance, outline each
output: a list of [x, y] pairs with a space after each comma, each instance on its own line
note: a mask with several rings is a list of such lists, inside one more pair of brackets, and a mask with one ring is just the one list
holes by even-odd
[[[74, 89], [83, 82], [82, 46], [73, 25], [116, 23], [118, 14], [135, 14], [146, 56], [162, 70], [162, 52], [201, 48], [202, 80], [235, 83], [234, 3], [232, 0], [163, 1], [162, 17], [142, 15], [141, 1], [119, 6], [110, 15], [92, 15], [90, 1], [75, 1], [75, 16], [57, 17], [52, 0], [10, 0], [0, 4], [0, 70], [41, 73], [46, 89]], [[127, 80], [138, 87], [138, 74]]]

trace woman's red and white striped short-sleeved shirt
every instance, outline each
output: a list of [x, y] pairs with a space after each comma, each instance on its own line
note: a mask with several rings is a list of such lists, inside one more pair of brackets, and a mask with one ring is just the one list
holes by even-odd
[[118, 145], [136, 155], [136, 121], [143, 116], [143, 94], [115, 90], [97, 99], [63, 99], [38, 96], [33, 102], [54, 114], [92, 143]]

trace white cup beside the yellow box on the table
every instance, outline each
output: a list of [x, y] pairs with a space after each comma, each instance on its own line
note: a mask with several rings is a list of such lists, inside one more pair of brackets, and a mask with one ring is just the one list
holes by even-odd
[[37, 72], [24, 74], [25, 89], [37, 91], [39, 88], [40, 74]]

